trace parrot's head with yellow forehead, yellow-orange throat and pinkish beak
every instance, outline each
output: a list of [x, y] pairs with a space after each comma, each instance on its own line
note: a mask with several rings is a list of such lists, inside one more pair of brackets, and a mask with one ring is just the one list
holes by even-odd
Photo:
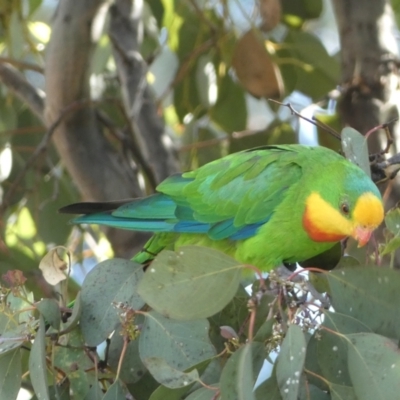
[[341, 187], [324, 183], [321, 190], [307, 196], [303, 227], [312, 240], [337, 242], [352, 237], [358, 247], [368, 243], [383, 221], [384, 209], [377, 187], [362, 174], [356, 180], [353, 174]]

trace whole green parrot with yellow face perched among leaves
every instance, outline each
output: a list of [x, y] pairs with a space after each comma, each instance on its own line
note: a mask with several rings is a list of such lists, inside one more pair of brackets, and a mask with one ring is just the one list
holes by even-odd
[[75, 224], [153, 232], [134, 260], [200, 245], [269, 271], [314, 257], [353, 237], [365, 245], [382, 222], [378, 188], [356, 165], [324, 147], [265, 146], [172, 175], [149, 197], [76, 203]]

